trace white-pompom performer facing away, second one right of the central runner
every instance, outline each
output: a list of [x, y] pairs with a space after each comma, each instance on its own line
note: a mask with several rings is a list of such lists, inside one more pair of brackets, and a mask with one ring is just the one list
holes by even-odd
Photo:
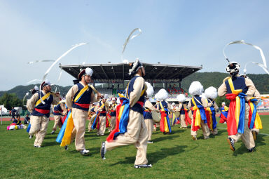
[[160, 110], [161, 119], [160, 119], [160, 131], [163, 134], [171, 133], [170, 119], [168, 112], [172, 111], [169, 103], [165, 100], [168, 98], [168, 93], [165, 89], [160, 89], [156, 94], [160, 102], [158, 102], [157, 110]]

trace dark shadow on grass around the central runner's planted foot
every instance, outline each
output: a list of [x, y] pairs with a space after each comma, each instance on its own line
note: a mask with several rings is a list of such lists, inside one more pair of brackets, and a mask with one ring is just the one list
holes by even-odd
[[[159, 152], [151, 152], [147, 154], [147, 158], [149, 160], [149, 164], [156, 164], [159, 160], [165, 159], [166, 157], [179, 154], [181, 152], [185, 152], [184, 148], [186, 148], [186, 145], [177, 145], [172, 148], [163, 148], [160, 149]], [[134, 164], [135, 163], [135, 157], [125, 157], [125, 160], [118, 161], [115, 164], [111, 164], [111, 166], [115, 166], [118, 164]]]

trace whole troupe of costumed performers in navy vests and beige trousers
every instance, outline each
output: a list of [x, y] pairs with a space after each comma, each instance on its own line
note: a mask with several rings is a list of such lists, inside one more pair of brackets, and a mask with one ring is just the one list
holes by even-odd
[[[151, 136], [154, 126], [154, 115], [159, 116], [160, 131], [172, 134], [173, 125], [181, 128], [191, 126], [191, 138], [197, 140], [197, 131], [201, 128], [204, 139], [217, 135], [216, 110], [220, 110], [220, 123], [227, 124], [228, 145], [235, 151], [235, 142], [242, 139], [249, 152], [254, 152], [258, 130], [262, 128], [261, 119], [256, 112], [257, 100], [261, 98], [253, 82], [246, 76], [239, 75], [240, 65], [230, 62], [226, 71], [230, 77], [223, 80], [218, 89], [209, 87], [205, 90], [199, 81], [193, 82], [186, 95], [177, 96], [178, 105], [167, 102], [168, 93], [161, 89], [154, 98], [153, 105], [149, 100], [153, 95], [153, 86], [144, 80], [146, 74], [142, 62], [136, 60], [130, 67], [132, 79], [127, 84], [125, 95], [119, 94], [118, 99], [101, 94], [90, 85], [92, 69], [83, 69], [78, 80], [72, 86], [65, 99], [59, 93], [51, 92], [50, 82], [43, 81], [41, 91], [33, 90], [32, 98], [27, 101], [27, 110], [31, 112], [31, 128], [29, 138], [35, 136], [34, 147], [41, 147], [48, 128], [50, 105], [53, 108], [54, 126], [51, 134], [60, 128], [57, 142], [65, 150], [74, 140], [76, 150], [81, 154], [90, 151], [85, 147], [86, 121], [89, 120], [88, 131], [96, 130], [97, 135], [104, 135], [106, 128], [110, 132], [106, 141], [102, 142], [100, 154], [105, 158], [106, 152], [116, 147], [134, 144], [137, 148], [135, 168], [150, 168], [146, 157], [147, 145], [153, 143]], [[219, 109], [216, 105], [217, 96], [226, 95], [230, 106], [225, 102]], [[154, 114], [154, 115], [153, 115]], [[157, 120], [158, 121], [158, 120]]]

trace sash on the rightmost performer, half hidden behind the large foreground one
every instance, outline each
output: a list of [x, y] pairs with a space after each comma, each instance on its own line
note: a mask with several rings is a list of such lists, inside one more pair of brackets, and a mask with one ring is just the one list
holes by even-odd
[[256, 128], [256, 129], [262, 129], [263, 125], [261, 124], [261, 118], [258, 115], [256, 105], [254, 102], [258, 101], [255, 98], [251, 98], [249, 100], [249, 123], [248, 126], [250, 129]]

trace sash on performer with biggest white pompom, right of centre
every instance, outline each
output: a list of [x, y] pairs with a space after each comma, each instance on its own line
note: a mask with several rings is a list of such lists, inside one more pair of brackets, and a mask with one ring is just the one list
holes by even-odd
[[193, 126], [191, 130], [198, 131], [201, 127], [201, 120], [204, 121], [204, 124], [207, 123], [205, 108], [202, 105], [196, 105], [194, 98], [192, 98], [191, 101], [194, 105], [193, 107], [191, 107], [191, 110], [193, 111]]

